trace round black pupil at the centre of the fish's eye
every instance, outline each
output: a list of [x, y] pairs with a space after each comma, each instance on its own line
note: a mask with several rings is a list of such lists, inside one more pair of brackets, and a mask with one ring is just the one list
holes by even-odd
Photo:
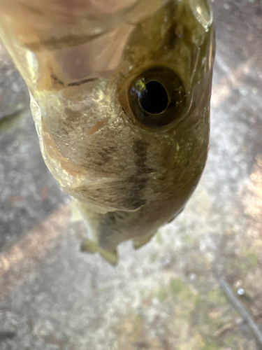
[[158, 114], [165, 111], [168, 106], [166, 89], [158, 81], [150, 81], [145, 85], [139, 102], [147, 113]]

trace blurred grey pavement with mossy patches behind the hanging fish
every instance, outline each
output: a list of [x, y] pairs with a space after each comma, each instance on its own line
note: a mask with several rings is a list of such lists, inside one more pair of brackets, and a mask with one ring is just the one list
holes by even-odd
[[85, 226], [45, 167], [29, 110], [1, 120], [1, 350], [262, 349], [262, 9], [213, 5], [201, 183], [149, 244], [122, 244], [116, 267], [80, 252]]

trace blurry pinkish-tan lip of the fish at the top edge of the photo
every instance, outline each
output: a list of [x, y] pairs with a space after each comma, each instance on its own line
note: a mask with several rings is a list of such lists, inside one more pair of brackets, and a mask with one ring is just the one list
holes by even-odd
[[[81, 4], [74, 0], [20, 1], [18, 6], [8, 3], [2, 7], [4, 15], [13, 20], [15, 25], [11, 21], [11, 27], [14, 27], [12, 29], [16, 35], [20, 34], [22, 45], [40, 52], [47, 48], [59, 50], [85, 45], [121, 25], [136, 25], [166, 3], [168, 0], [115, 1], [110, 4], [103, 1], [101, 6], [95, 1], [82, 1]], [[28, 18], [27, 22], [18, 20], [21, 13]], [[30, 36], [29, 33], [34, 35]]]

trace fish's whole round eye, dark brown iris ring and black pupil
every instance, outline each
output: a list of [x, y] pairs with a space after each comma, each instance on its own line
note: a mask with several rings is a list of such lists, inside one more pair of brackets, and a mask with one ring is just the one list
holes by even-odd
[[158, 128], [181, 120], [187, 107], [187, 93], [173, 69], [147, 69], [131, 83], [128, 93], [133, 116], [147, 127]]

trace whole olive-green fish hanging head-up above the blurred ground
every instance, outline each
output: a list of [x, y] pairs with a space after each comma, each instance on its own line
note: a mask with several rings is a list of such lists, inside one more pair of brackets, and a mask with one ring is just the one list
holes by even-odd
[[115, 265], [184, 209], [208, 157], [208, 0], [9, 0], [0, 38], [29, 88], [45, 164]]

